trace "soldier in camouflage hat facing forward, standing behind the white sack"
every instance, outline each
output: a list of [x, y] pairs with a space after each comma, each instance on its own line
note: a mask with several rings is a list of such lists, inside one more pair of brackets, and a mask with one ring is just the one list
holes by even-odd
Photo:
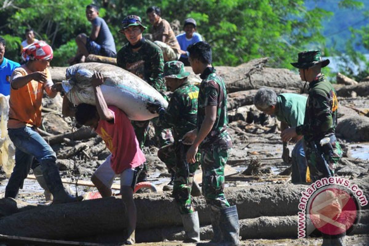
[[[137, 15], [128, 15], [124, 18], [122, 24], [123, 28], [119, 32], [125, 35], [128, 43], [118, 51], [117, 65], [145, 80], [165, 96], [166, 87], [163, 80], [164, 60], [161, 49], [153, 42], [142, 37], [142, 32], [146, 27], [142, 25], [141, 18]], [[141, 149], [145, 144], [149, 123], [150, 121], [132, 121]], [[156, 121], [153, 120], [155, 135], [159, 138], [159, 145], [168, 143], [168, 139], [170, 139], [169, 129], [163, 131], [164, 129], [155, 123]], [[167, 139], [163, 139], [163, 135], [167, 136]], [[138, 182], [146, 180], [147, 169], [145, 163]]]

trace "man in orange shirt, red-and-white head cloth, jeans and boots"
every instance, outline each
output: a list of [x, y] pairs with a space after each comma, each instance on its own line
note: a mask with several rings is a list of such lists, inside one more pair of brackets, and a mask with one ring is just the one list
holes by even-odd
[[52, 49], [48, 44], [44, 41], [35, 42], [23, 50], [22, 58], [27, 63], [15, 69], [11, 77], [8, 134], [15, 146], [15, 166], [5, 189], [5, 197], [17, 196], [35, 157], [40, 163], [40, 177], [44, 178], [38, 181], [52, 193], [53, 203], [82, 200], [64, 190], [56, 166], [56, 154], [37, 132], [41, 125], [44, 90], [53, 98], [62, 89], [60, 84], [52, 83], [47, 69], [52, 57]]

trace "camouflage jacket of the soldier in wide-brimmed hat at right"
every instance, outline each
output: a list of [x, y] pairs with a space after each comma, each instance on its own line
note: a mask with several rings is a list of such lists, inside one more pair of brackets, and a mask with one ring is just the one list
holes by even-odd
[[309, 83], [308, 93], [304, 124], [296, 127], [296, 133], [311, 142], [335, 133], [338, 101], [332, 84], [323, 74]]

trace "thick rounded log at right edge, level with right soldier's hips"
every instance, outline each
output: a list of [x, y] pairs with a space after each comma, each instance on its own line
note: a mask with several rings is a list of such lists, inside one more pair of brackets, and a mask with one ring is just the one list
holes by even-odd
[[351, 141], [369, 141], [369, 118], [362, 115], [342, 118], [337, 124], [336, 133]]

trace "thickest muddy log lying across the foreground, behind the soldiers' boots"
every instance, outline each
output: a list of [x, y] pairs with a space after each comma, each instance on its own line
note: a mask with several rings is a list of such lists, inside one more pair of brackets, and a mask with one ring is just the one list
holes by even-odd
[[[369, 179], [355, 183], [369, 194]], [[352, 182], [353, 183], [353, 182]], [[230, 204], [236, 204], [239, 219], [260, 216], [297, 215], [301, 191], [306, 185], [273, 184], [247, 188], [226, 188]], [[135, 197], [137, 228], [182, 226], [178, 208], [169, 194], [143, 194]], [[203, 197], [194, 198], [201, 225], [209, 225], [209, 208]], [[368, 209], [368, 205], [363, 209]], [[58, 204], [19, 212], [0, 219], [0, 234], [56, 239], [123, 231], [127, 226], [121, 199], [114, 197]]]

